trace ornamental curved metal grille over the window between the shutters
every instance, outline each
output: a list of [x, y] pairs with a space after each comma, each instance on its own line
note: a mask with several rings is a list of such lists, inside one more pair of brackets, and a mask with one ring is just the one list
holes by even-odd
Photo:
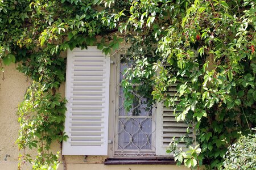
[[147, 107], [147, 101], [135, 91], [132, 108], [129, 112], [123, 107], [123, 88], [121, 81], [123, 71], [131, 65], [123, 63], [123, 56], [119, 59], [117, 66], [118, 84], [116, 87], [118, 106], [115, 109], [115, 152], [116, 156], [154, 156], [155, 155], [155, 121], [152, 108]]

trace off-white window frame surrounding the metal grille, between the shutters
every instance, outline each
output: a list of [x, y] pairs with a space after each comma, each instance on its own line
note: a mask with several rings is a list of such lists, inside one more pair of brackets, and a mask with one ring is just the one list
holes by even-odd
[[[124, 53], [116, 53], [111, 59], [114, 61], [110, 66], [110, 101], [114, 103], [114, 108], [110, 109], [109, 117], [109, 158], [156, 158], [156, 106], [152, 108], [152, 127], [151, 127], [151, 146], [150, 151], [143, 150], [142, 155], [137, 155], [138, 150], [126, 151], [125, 155], [117, 155], [121, 150], [118, 149], [118, 114], [119, 114], [119, 94], [120, 94], [120, 71], [121, 71], [121, 55]], [[114, 71], [114, 74], [112, 74]], [[114, 81], [113, 81], [114, 77]], [[113, 93], [114, 91], [114, 93]], [[114, 100], [113, 100], [114, 99]], [[129, 117], [129, 116], [128, 116]], [[127, 154], [127, 155], [126, 155]]]

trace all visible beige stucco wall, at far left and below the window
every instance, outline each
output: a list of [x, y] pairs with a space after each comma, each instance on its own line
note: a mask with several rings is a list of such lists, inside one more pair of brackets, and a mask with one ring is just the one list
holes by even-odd
[[[18, 147], [15, 144], [18, 137], [19, 124], [16, 117], [17, 105], [22, 101], [30, 80], [16, 70], [16, 65], [11, 64], [5, 67], [5, 79], [0, 74], [0, 170], [17, 169], [18, 166]], [[64, 85], [59, 90], [64, 94]], [[52, 146], [54, 151], [59, 151], [60, 146], [55, 143]], [[5, 156], [7, 157], [5, 161]], [[165, 170], [165, 169], [186, 169], [176, 165], [104, 165], [107, 156], [65, 156], [67, 170], [80, 169], [106, 169], [106, 170]], [[31, 169], [30, 165], [24, 166], [23, 169]], [[63, 169], [63, 165], [59, 167]]]

